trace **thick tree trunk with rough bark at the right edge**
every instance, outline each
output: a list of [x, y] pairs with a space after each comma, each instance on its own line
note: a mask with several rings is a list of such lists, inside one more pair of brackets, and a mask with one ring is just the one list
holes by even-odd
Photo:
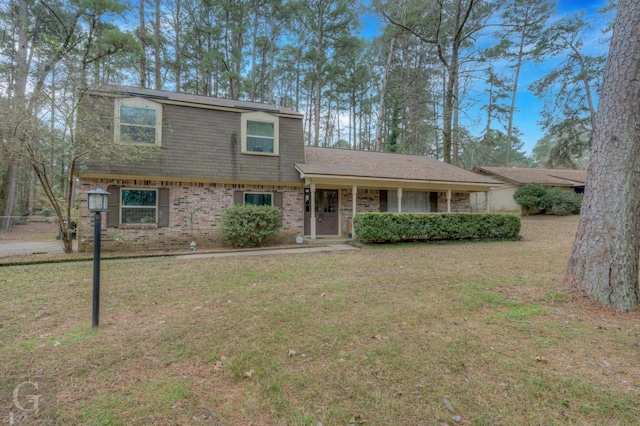
[[637, 309], [640, 236], [640, 5], [621, 0], [605, 69], [580, 224], [566, 280]]

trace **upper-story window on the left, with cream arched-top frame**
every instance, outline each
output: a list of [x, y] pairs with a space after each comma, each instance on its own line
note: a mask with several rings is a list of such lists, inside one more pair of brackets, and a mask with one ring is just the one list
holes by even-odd
[[140, 98], [116, 99], [114, 117], [116, 142], [160, 145], [162, 105]]

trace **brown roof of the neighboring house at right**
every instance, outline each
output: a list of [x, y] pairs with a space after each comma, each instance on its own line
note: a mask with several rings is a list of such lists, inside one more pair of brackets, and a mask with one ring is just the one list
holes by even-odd
[[586, 170], [476, 167], [473, 171], [504, 179], [517, 185], [539, 183], [545, 186], [580, 187], [584, 186], [587, 181]]

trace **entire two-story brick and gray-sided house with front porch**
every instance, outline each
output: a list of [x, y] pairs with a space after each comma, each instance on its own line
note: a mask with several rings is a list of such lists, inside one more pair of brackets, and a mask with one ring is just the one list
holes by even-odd
[[302, 115], [273, 105], [130, 87], [88, 99], [80, 133], [131, 155], [79, 169], [81, 250], [96, 186], [111, 194], [113, 250], [221, 245], [222, 212], [236, 203], [282, 208], [278, 239], [293, 242], [352, 234], [358, 211], [470, 211], [470, 193], [501, 185], [423, 156], [305, 148]]

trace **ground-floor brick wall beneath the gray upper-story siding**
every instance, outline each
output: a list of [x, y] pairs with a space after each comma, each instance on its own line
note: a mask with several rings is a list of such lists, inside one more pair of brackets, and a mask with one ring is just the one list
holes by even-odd
[[292, 186], [230, 185], [215, 183], [182, 183], [164, 181], [83, 179], [79, 186], [78, 246], [80, 251], [93, 250], [93, 213], [87, 208], [87, 191], [100, 185], [118, 185], [136, 189], [169, 189], [169, 226], [120, 225], [107, 227], [102, 218], [103, 250], [189, 250], [214, 248], [224, 244], [220, 229], [222, 212], [233, 205], [234, 191], [281, 191], [283, 224], [271, 243], [290, 243], [303, 234], [303, 190]]

